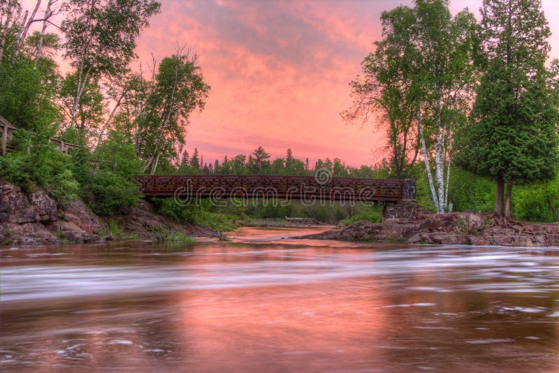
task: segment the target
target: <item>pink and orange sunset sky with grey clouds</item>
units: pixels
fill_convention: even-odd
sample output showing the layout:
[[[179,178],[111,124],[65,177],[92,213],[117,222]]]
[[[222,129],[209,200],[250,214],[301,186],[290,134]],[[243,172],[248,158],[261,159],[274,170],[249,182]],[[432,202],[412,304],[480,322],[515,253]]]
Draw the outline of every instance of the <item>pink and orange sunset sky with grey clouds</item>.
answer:
[[[380,37],[383,10],[405,0],[249,1],[162,0],[162,11],[138,40],[140,61],[158,60],[186,45],[199,55],[212,87],[203,112],[191,117],[187,149],[205,161],[248,154],[262,145],[272,156],[311,162],[339,157],[351,166],[375,163],[382,131],[348,125],[348,82]],[[559,35],[559,1],[544,0]],[[453,0],[457,13],[478,13],[481,0]],[[558,36],[552,36],[552,47]],[[557,56],[559,47],[551,54]]]

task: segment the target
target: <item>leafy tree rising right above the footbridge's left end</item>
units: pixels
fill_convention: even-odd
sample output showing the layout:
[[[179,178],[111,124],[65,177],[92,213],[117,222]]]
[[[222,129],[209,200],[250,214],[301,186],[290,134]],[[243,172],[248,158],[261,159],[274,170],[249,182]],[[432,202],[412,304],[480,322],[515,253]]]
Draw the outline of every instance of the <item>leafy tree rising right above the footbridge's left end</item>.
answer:
[[[180,48],[159,65],[153,58],[148,71],[140,66],[115,89],[120,103],[107,129],[124,133],[145,162],[143,172],[155,173],[161,159],[182,149],[191,112],[204,108],[209,91],[196,55]]]

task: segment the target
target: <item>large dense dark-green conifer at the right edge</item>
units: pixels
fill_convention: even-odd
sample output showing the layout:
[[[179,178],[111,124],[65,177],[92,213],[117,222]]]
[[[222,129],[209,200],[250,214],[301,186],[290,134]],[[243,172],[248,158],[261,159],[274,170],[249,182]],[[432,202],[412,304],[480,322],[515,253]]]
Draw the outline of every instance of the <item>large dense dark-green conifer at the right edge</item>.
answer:
[[[551,33],[541,5],[484,0],[481,8],[488,59],[460,162],[496,180],[497,217],[511,217],[513,184],[551,180],[559,161],[557,75],[545,66]]]

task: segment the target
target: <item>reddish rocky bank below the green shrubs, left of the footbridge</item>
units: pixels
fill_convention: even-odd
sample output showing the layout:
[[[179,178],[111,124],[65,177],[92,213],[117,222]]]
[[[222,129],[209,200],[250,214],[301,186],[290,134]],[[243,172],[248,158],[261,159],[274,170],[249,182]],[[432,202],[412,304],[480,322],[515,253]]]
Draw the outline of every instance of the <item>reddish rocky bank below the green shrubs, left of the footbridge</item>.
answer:
[[[108,219],[97,217],[81,200],[59,207],[48,193],[38,189],[24,193],[18,186],[0,182],[0,245],[38,245],[111,240]],[[129,214],[112,217],[119,235],[161,239],[170,232],[191,237],[219,237],[206,226],[177,224],[154,214],[153,206],[139,200]]]

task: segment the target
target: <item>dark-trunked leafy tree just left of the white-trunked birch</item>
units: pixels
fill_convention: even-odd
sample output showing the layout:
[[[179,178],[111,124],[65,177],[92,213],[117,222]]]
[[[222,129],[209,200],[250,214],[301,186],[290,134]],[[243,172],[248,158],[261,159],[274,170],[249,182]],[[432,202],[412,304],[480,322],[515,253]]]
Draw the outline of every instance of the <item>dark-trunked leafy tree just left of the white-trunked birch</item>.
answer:
[[[372,112],[377,114],[374,119],[379,128],[386,130],[395,176],[402,178],[419,152],[411,92],[416,15],[412,8],[398,6],[383,12],[381,22],[382,41],[375,42],[375,52],[361,63],[363,78],[349,83],[354,104],[342,117],[347,122],[362,118],[365,123]]]

